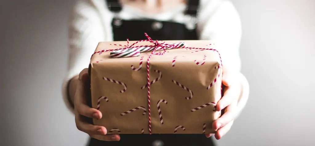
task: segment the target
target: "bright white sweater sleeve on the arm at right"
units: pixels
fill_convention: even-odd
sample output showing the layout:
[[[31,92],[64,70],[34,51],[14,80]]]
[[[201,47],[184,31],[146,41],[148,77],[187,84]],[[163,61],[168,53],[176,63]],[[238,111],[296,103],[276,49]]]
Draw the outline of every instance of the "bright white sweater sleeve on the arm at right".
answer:
[[[239,46],[242,36],[241,21],[232,2],[228,0],[201,0],[197,28],[199,39],[212,40],[219,51],[223,67],[236,72],[242,91],[238,99],[239,113],[247,103],[249,85],[241,71]]]

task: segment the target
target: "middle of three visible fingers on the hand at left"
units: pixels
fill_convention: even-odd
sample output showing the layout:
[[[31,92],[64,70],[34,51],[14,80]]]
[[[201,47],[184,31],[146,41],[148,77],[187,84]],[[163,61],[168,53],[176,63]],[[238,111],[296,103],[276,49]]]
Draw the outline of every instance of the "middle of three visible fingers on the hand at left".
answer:
[[[85,132],[89,135],[106,135],[107,129],[104,126],[96,126],[89,123],[86,123],[82,120],[82,117],[77,113],[75,116],[77,129]]]

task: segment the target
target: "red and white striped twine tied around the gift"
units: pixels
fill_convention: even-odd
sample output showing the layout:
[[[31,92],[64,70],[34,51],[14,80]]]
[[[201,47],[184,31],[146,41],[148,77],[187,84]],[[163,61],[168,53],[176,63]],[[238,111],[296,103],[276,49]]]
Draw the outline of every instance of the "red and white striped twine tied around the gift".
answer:
[[[167,46],[168,48],[184,48],[184,49],[199,49],[199,50],[213,50],[215,52],[217,52],[219,54],[219,57],[220,57],[220,61],[221,61],[221,67],[223,66],[222,65],[222,60],[221,60],[221,55],[220,53],[216,50],[216,49],[211,49],[211,48],[194,48],[194,47],[185,47],[185,46],[182,46],[182,47],[178,47],[178,46],[175,46],[175,45],[170,45],[170,44],[165,44],[165,42],[162,42],[162,43],[159,43],[157,40],[156,41],[153,41],[151,39],[151,37],[149,37],[146,33],[145,33],[145,36],[147,38],[147,40],[140,40],[140,41],[137,41],[135,43],[133,43],[132,45],[129,45],[129,40],[127,40],[127,47],[125,46],[125,48],[118,48],[118,49],[111,49],[111,50],[101,50],[101,51],[97,51],[97,52],[94,52],[91,56],[91,59],[93,57],[94,54],[96,53],[103,53],[103,52],[108,52],[108,51],[116,51],[116,50],[123,50],[123,49],[128,49],[128,48],[131,48],[133,45],[139,43],[139,42],[151,42],[153,43],[154,45],[150,46],[150,47],[155,47],[154,50],[151,52],[149,58],[147,59],[147,65],[146,65],[146,70],[147,70],[147,87],[148,87],[148,112],[149,112],[149,133],[152,134],[151,132],[151,111],[150,111],[150,78],[149,78],[149,62],[150,62],[150,59],[152,57],[153,54],[155,55],[163,55],[165,52],[166,52],[166,49],[165,49],[165,46]],[[113,44],[115,45],[115,44]],[[119,46],[119,45],[118,45]],[[136,46],[136,47],[143,47],[143,46]],[[148,45],[146,45],[146,47],[148,47]],[[158,47],[161,47],[163,48],[163,52],[162,53],[155,53],[155,51],[157,50]],[[118,82],[119,83],[119,82]],[[125,84],[121,84],[121,85],[124,85],[124,90],[126,90],[126,85]],[[124,90],[122,90],[124,92]],[[221,85],[221,90],[222,90],[222,85]],[[222,92],[222,91],[221,91]]]

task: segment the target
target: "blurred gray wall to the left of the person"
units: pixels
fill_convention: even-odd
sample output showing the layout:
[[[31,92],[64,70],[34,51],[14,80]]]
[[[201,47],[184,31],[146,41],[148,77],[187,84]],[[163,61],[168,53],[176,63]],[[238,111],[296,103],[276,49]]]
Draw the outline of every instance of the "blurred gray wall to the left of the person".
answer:
[[[75,1],[1,0],[1,146],[86,143],[61,97]]]

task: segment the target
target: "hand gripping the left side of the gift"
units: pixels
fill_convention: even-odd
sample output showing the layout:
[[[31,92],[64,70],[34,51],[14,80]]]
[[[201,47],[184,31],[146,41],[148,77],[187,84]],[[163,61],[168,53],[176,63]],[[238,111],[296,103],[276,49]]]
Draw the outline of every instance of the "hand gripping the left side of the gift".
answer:
[[[74,109],[75,109],[75,121],[77,128],[89,134],[91,138],[104,140],[104,141],[119,141],[120,136],[117,134],[108,134],[107,129],[104,126],[95,126],[88,122],[88,118],[102,118],[102,113],[94,108],[90,108],[87,105],[87,100],[91,100],[90,97],[90,80],[88,75],[88,69],[83,69],[79,74],[79,81],[77,83],[77,90],[74,95]]]

